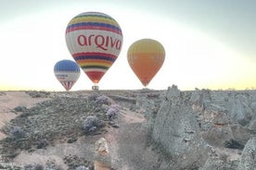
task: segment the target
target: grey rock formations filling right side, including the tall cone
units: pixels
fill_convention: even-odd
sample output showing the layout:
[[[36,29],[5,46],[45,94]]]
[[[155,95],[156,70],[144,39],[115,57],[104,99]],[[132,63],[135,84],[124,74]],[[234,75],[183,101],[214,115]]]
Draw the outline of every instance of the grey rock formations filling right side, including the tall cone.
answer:
[[[167,155],[160,169],[255,169],[255,95],[169,88],[150,120],[152,140]]]

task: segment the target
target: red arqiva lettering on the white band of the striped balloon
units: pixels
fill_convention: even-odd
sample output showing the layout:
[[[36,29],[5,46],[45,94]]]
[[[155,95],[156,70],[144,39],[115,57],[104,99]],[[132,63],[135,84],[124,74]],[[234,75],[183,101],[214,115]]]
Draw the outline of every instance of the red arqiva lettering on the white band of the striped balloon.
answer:
[[[89,36],[85,35],[79,35],[77,37],[77,42],[81,46],[91,46],[92,44],[96,44],[97,48],[100,48],[104,51],[107,51],[110,48],[115,48],[117,50],[121,50],[122,47],[122,41],[113,38],[110,36],[104,36],[104,35],[96,35],[96,34],[91,34]]]

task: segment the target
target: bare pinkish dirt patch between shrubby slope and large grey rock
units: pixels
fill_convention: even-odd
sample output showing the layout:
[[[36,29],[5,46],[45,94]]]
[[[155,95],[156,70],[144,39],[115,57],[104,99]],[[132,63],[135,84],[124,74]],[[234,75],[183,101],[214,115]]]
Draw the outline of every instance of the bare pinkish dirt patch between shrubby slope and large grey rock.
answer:
[[[158,155],[147,147],[148,128],[144,115],[122,110],[118,123],[105,138],[109,141],[112,167],[118,170],[152,170]]]

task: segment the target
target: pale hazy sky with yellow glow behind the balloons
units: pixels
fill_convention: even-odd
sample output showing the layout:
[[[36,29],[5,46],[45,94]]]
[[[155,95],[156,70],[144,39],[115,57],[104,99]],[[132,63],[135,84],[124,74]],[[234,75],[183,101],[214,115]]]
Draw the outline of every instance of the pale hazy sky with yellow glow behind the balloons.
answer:
[[[53,67],[73,60],[65,42],[71,18],[103,12],[122,29],[122,51],[100,90],[143,89],[127,62],[129,46],[159,41],[165,61],[148,89],[256,88],[255,0],[0,0],[0,91],[65,91]],[[82,72],[71,91],[91,90]]]

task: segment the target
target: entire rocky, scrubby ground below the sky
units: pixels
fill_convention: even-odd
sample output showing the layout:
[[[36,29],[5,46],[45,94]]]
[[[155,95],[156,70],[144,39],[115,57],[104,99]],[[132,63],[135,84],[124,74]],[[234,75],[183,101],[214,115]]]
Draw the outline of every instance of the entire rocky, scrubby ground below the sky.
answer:
[[[0,169],[256,169],[256,91],[2,91],[0,106]]]

